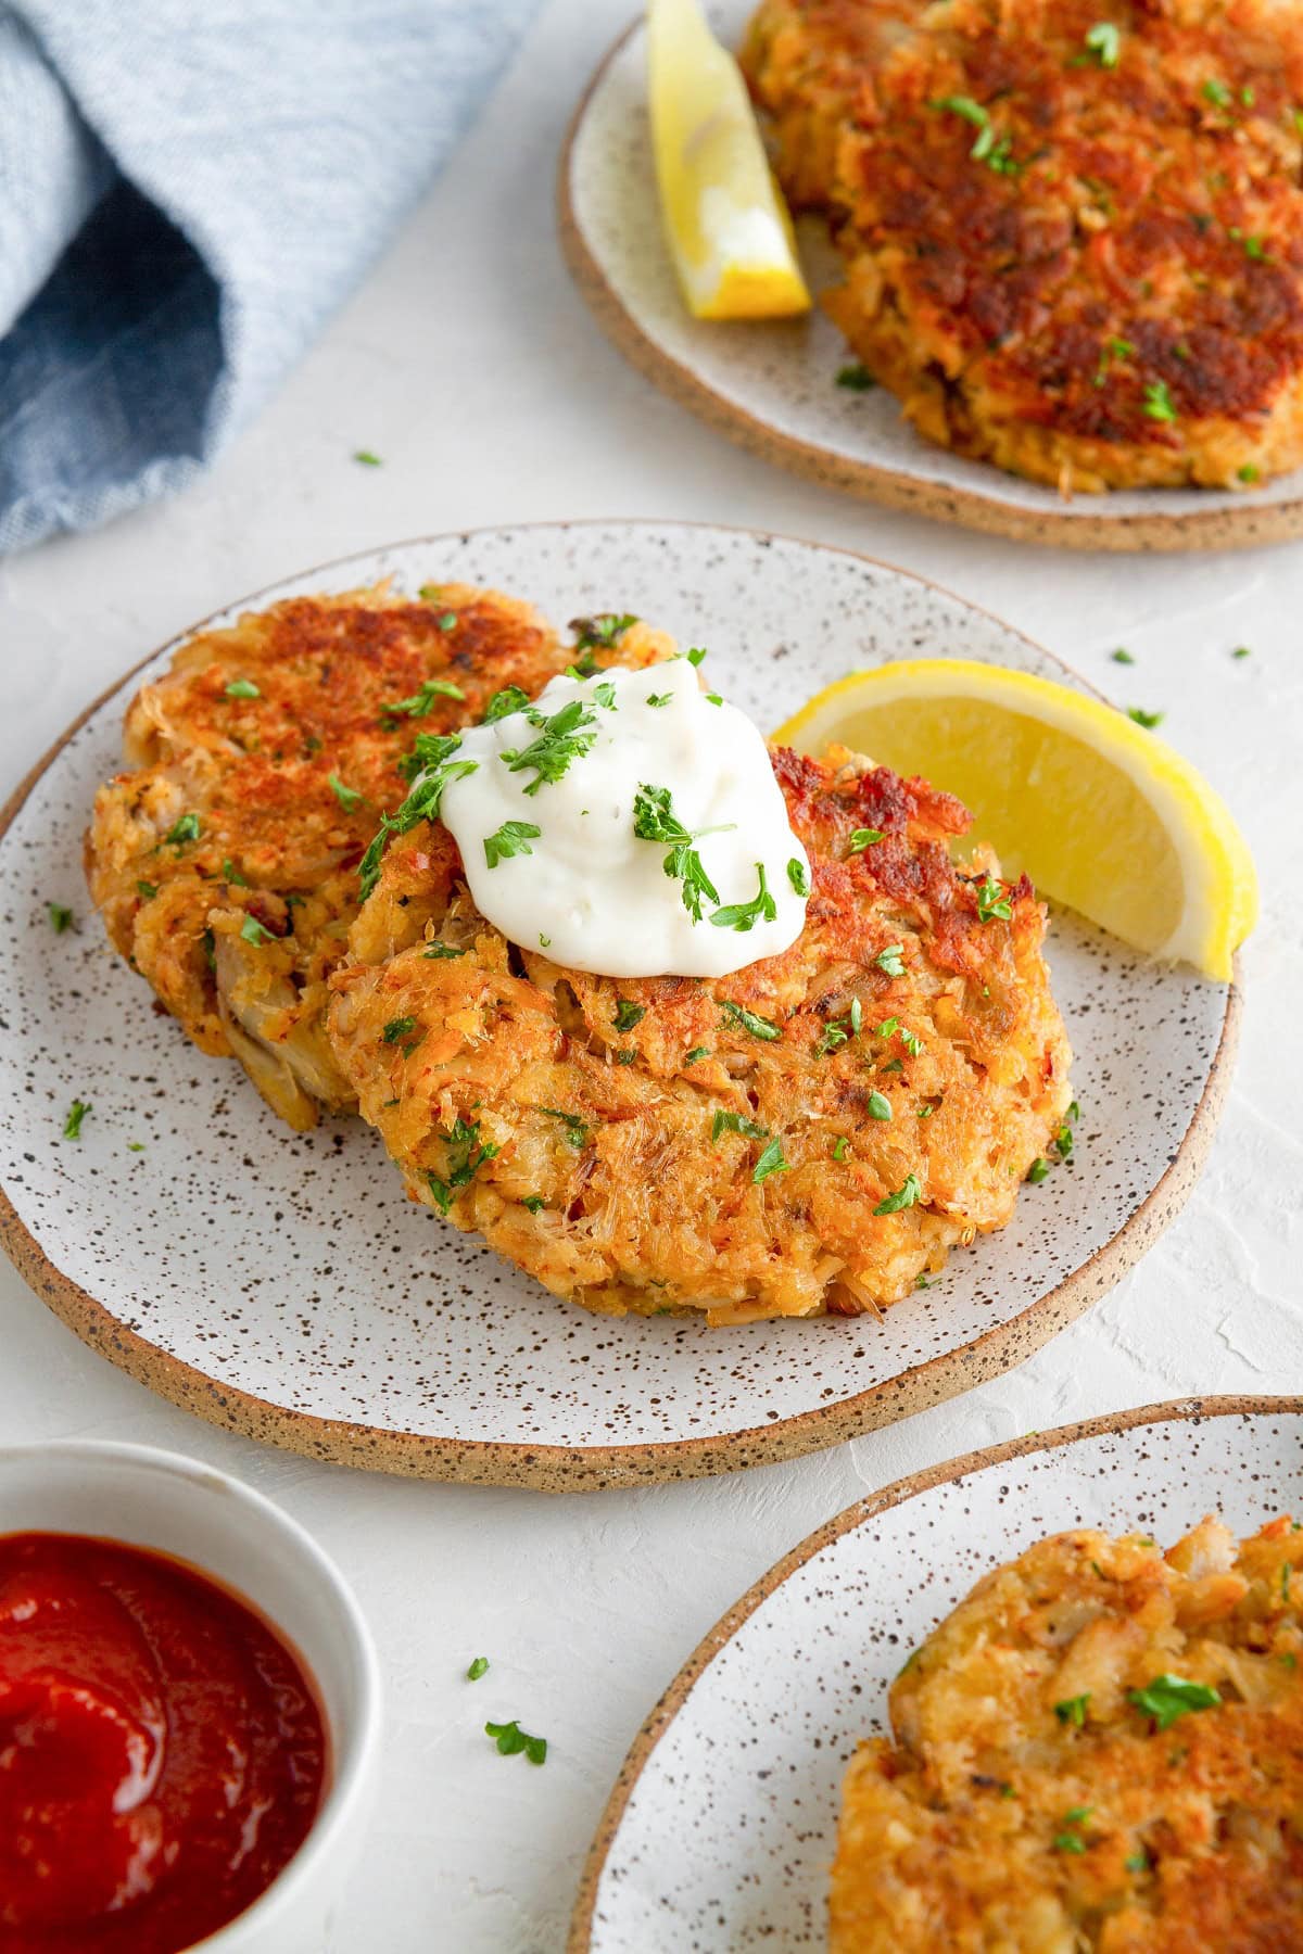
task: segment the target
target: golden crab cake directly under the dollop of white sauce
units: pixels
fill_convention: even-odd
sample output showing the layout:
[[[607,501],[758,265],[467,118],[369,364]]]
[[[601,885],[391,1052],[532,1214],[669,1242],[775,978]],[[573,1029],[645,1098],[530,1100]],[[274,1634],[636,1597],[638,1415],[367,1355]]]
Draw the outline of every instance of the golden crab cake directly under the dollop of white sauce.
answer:
[[[440,823],[391,842],[330,1036],[414,1200],[588,1309],[860,1315],[996,1229],[1065,1118],[1026,879],[965,809],[776,750],[805,928],[729,977],[609,979],[508,942]]]

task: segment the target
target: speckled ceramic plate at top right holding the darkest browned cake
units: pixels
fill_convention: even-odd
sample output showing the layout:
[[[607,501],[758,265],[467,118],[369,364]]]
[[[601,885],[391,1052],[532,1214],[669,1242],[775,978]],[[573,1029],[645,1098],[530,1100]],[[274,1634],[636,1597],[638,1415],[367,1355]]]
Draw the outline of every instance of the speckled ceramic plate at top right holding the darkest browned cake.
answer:
[[[719,0],[736,47],[754,0]],[[1227,549],[1303,533],[1303,475],[1252,492],[1149,488],[1082,494],[1020,481],[924,442],[883,389],[836,385],[840,332],[809,319],[709,324],[688,317],[660,231],[641,21],[609,51],[570,125],[559,176],[561,242],[580,291],[658,387],[754,453],[832,488],[996,535],[1076,549]],[[801,219],[811,291],[840,277],[820,219]]]

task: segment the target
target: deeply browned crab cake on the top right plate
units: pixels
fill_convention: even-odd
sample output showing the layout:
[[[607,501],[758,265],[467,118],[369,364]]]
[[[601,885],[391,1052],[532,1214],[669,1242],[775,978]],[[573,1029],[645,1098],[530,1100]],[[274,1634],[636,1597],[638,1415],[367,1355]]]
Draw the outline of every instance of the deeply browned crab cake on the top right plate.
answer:
[[[1303,463],[1303,10],[764,0],[744,64],[920,434],[1065,492]]]

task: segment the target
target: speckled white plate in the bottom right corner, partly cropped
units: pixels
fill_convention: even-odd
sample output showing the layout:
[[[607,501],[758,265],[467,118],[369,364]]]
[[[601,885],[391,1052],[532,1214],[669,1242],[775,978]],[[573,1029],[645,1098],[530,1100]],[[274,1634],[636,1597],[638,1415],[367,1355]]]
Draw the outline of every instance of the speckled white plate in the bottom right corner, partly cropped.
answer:
[[[568,1954],[826,1948],[842,1772],[887,1731],[904,1655],[975,1581],[1067,1526],[1143,1528],[1168,1548],[1205,1512],[1248,1534],[1289,1508],[1303,1510],[1297,1397],[1031,1432],[850,1507],[729,1610],[639,1731]]]

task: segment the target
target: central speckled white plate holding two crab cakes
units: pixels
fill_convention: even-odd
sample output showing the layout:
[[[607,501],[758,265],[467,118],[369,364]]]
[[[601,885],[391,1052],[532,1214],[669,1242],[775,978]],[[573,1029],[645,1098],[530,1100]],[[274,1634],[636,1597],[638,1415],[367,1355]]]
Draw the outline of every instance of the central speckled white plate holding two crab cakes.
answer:
[[[465,580],[557,621],[633,610],[711,649],[762,727],[844,672],[918,653],[1082,686],[903,571],[736,530],[576,524],[432,537],[254,600]],[[242,610],[207,623],[221,623]],[[145,670],[168,662],[164,647]],[[221,1424],[318,1458],[551,1489],[729,1471],[834,1444],[1018,1364],[1180,1208],[1229,1077],[1237,993],[1061,916],[1076,1159],[881,1323],[711,1331],[557,1301],[412,1206],[359,1120],[299,1135],[231,1061],[150,1010],[86,916],[80,842],[141,670],[20,789],[0,840],[0,1233],[98,1350]],[[1088,690],[1088,688],[1086,688]],[[82,916],[55,936],[47,901]],[[68,1104],[94,1112],[61,1139]],[[129,1151],[141,1145],[143,1151]]]

